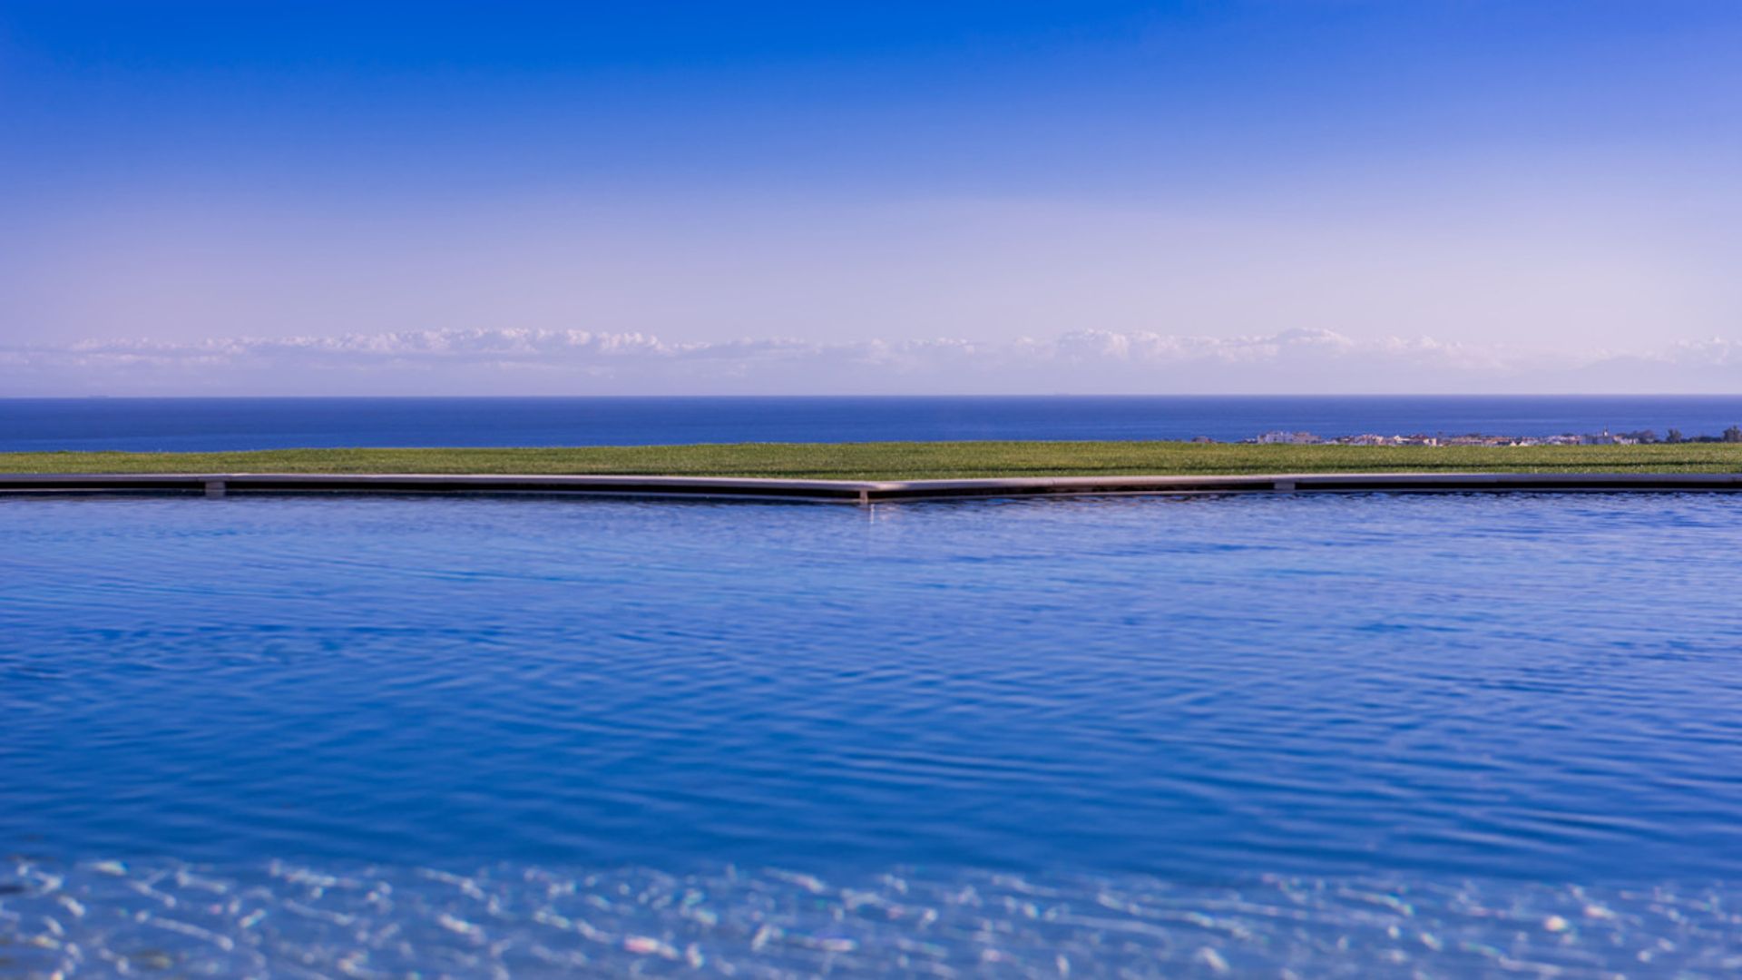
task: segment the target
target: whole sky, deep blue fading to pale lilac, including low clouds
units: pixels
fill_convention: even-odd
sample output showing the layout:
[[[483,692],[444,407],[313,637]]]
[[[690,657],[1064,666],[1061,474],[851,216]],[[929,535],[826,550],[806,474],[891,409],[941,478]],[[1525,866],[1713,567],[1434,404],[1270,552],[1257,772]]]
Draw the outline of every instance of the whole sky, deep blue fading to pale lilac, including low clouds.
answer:
[[[0,0],[0,394],[1735,391],[1739,51],[1676,0]]]

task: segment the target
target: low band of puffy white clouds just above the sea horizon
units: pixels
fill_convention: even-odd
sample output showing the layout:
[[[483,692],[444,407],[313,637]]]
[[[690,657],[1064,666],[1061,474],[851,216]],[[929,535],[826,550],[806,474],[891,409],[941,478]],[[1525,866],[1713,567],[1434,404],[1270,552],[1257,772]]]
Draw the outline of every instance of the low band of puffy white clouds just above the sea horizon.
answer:
[[[3,394],[1556,392],[1735,391],[1742,340],[1526,349],[1331,330],[1073,330],[1012,342],[432,330],[0,349]]]

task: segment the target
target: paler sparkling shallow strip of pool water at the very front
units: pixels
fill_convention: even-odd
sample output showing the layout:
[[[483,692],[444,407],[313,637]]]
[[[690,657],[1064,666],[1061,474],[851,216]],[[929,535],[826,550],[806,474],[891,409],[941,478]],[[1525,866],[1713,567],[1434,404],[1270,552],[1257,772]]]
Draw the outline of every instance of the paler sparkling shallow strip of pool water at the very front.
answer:
[[[14,863],[28,977],[1723,977],[1742,889],[1507,881]]]

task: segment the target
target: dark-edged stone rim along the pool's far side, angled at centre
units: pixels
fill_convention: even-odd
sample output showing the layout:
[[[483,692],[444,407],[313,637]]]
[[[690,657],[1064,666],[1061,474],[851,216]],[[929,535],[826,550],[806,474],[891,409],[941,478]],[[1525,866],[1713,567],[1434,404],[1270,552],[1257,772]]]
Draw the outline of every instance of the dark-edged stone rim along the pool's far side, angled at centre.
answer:
[[[772,480],[439,473],[30,473],[0,493],[538,493],[881,504],[1131,493],[1568,493],[1742,490],[1742,473],[1270,473],[1239,476],[1019,476],[982,480]]]

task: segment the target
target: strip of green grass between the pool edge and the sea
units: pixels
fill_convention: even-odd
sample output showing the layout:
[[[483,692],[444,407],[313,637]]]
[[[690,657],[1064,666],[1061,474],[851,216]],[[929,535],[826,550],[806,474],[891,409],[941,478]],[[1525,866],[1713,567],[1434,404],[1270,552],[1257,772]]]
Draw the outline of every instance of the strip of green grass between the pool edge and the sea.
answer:
[[[1737,473],[1742,445],[1258,446],[739,443],[709,446],[0,453],[0,473],[591,473],[923,480],[1198,473]]]

